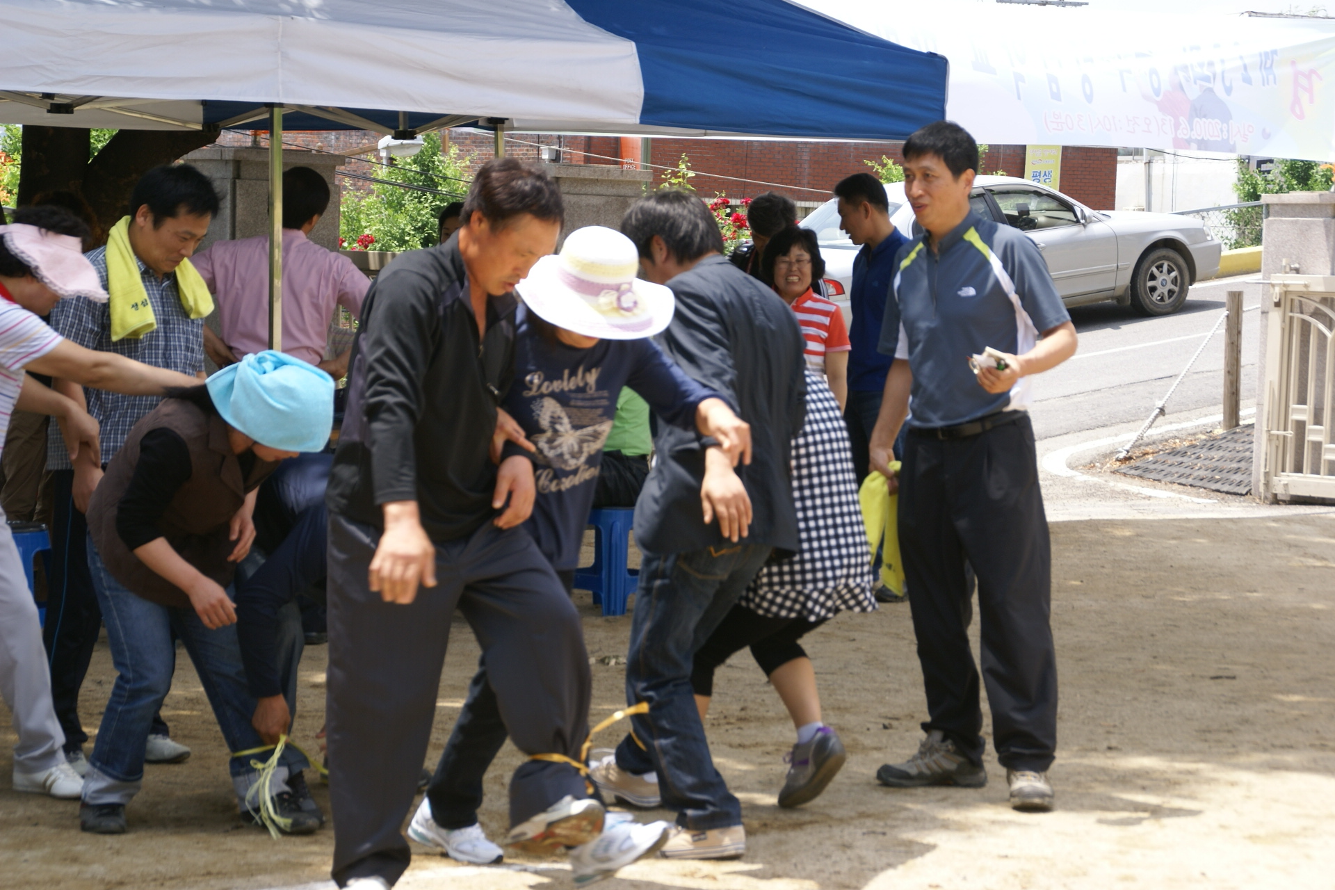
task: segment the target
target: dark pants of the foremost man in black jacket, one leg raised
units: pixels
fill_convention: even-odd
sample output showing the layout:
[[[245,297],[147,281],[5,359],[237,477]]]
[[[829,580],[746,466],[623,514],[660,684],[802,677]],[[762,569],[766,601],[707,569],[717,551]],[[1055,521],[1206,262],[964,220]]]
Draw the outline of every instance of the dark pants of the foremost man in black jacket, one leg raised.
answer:
[[[327,734],[334,879],[394,883],[411,854],[400,827],[417,794],[455,608],[482,646],[487,681],[525,754],[578,758],[591,677],[579,614],[522,528],[490,522],[437,543],[435,587],[410,604],[367,587],[379,532],[330,516]],[[587,797],[567,763],[526,761],[510,782],[517,825],[566,795]]]

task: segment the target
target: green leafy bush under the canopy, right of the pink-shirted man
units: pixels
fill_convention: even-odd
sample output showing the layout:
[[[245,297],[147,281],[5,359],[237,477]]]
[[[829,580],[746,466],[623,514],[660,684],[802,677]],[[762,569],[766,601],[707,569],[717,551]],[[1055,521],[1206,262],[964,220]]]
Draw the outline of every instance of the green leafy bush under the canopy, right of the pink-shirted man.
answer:
[[[339,204],[339,235],[343,247],[413,251],[435,244],[441,231],[437,216],[450,201],[463,200],[471,164],[471,152],[463,155],[454,144],[442,151],[441,136],[426,133],[422,137],[422,151],[417,155],[400,157],[392,167],[374,168],[372,175],[384,184],[375,183],[370,191],[358,188],[343,191]],[[403,188],[388,183],[418,188]],[[422,188],[431,191],[421,191]]]

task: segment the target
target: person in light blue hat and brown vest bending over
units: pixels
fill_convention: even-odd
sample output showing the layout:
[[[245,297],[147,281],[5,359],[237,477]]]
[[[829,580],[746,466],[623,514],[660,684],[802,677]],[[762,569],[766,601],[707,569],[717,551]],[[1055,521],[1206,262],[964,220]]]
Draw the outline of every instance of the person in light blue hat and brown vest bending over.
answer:
[[[227,588],[255,538],[256,488],[279,460],[322,448],[332,420],[334,380],[266,351],[218,371],[206,386],[174,392],[112,458],[88,504],[88,568],[116,682],[84,781],[84,831],[125,831],[125,805],[143,783],[144,739],[171,689],[178,639],[234,754],[243,817],[260,823],[268,807],[259,795],[267,793],[279,829],[319,827],[286,783],[308,766],[299,751],[286,749],[276,783],[259,786],[252,759],[264,742],[251,726],[256,702],[246,687]]]

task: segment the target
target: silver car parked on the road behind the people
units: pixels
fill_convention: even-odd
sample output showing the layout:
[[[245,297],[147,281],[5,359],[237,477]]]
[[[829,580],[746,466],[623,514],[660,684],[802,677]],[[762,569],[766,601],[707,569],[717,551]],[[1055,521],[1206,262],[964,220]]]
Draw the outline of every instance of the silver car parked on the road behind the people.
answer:
[[[921,231],[904,183],[886,184],[885,196],[896,228],[905,235]],[[1219,274],[1223,246],[1189,216],[1096,211],[1015,176],[979,176],[969,204],[984,219],[1033,239],[1067,306],[1116,300],[1140,315],[1168,315],[1181,308],[1195,282]],[[838,227],[838,201],[825,201],[801,226],[820,240],[828,295],[846,304],[858,248]]]

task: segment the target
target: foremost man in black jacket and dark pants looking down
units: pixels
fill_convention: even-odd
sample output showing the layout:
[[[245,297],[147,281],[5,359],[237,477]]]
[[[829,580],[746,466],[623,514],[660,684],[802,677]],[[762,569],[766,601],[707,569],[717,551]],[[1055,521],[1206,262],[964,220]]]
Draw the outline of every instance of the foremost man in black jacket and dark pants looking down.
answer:
[[[514,375],[511,291],[555,246],[561,195],[545,175],[495,160],[478,172],[463,215],[449,242],[400,256],[371,288],[330,472],[328,757],[340,886],[392,885],[409,865],[400,826],[455,607],[482,646],[510,738],[545,755],[511,781],[510,843],[577,846],[602,827],[602,807],[573,766],[589,734],[579,616],[519,527],[533,506],[531,462],[513,456],[498,468],[487,451]]]

